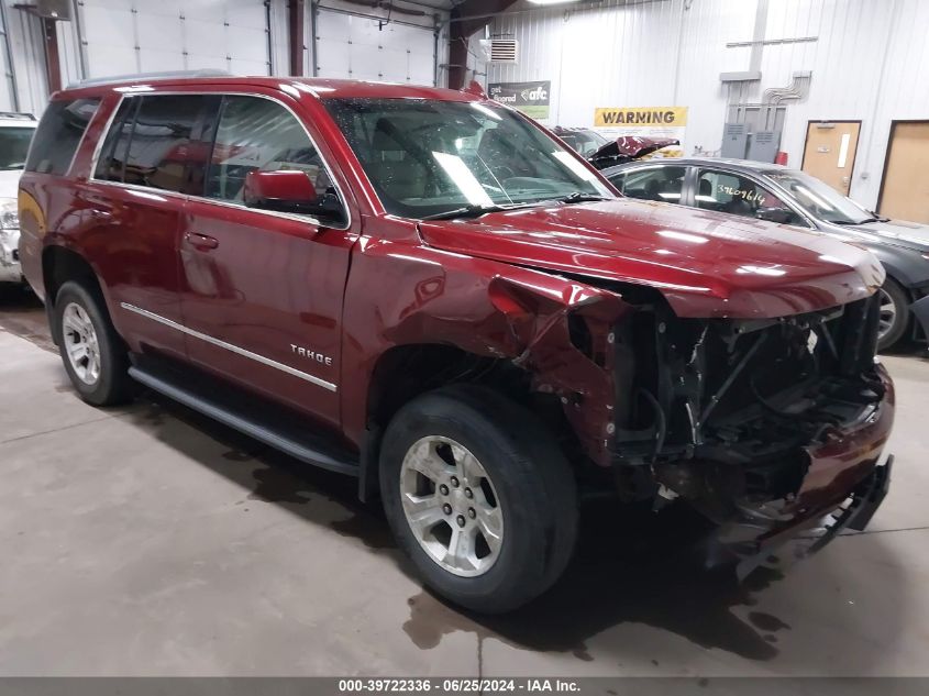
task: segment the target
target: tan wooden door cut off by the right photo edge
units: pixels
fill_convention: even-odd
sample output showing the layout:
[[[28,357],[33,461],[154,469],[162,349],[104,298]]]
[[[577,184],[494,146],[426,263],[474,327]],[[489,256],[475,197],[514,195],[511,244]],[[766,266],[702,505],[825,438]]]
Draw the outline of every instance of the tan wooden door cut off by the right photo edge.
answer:
[[[898,220],[929,223],[929,121],[897,121],[884,165],[878,208]]]

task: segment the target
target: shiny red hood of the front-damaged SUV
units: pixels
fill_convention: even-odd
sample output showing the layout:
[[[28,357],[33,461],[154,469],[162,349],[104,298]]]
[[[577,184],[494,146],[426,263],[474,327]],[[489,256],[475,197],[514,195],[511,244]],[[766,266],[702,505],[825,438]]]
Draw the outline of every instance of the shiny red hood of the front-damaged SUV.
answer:
[[[864,248],[818,232],[667,203],[610,200],[420,225],[436,248],[648,285],[682,317],[781,317],[884,280]]]

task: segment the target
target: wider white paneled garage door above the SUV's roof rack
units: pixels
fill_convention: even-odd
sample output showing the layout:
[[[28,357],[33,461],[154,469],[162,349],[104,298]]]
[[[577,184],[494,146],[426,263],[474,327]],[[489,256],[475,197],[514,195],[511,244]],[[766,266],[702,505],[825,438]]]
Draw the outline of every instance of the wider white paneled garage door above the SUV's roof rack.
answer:
[[[84,0],[78,8],[88,77],[268,74],[267,11],[257,0]]]

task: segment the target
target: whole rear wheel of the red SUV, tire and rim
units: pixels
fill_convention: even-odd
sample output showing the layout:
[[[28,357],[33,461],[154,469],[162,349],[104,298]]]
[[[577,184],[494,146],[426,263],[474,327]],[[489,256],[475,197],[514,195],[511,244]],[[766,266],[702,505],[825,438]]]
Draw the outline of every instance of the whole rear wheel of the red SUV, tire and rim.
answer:
[[[80,398],[93,406],[128,400],[129,355],[99,292],[65,283],[55,297],[54,320],[58,352]]]

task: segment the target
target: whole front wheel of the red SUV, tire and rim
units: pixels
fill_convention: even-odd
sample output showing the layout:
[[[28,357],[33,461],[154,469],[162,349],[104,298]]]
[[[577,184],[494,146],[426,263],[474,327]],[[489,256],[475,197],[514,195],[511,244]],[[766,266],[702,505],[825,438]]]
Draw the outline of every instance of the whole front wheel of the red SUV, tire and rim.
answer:
[[[380,489],[425,584],[469,609],[533,599],[574,548],[567,462],[529,411],[489,389],[449,387],[405,406],[385,433]]]

